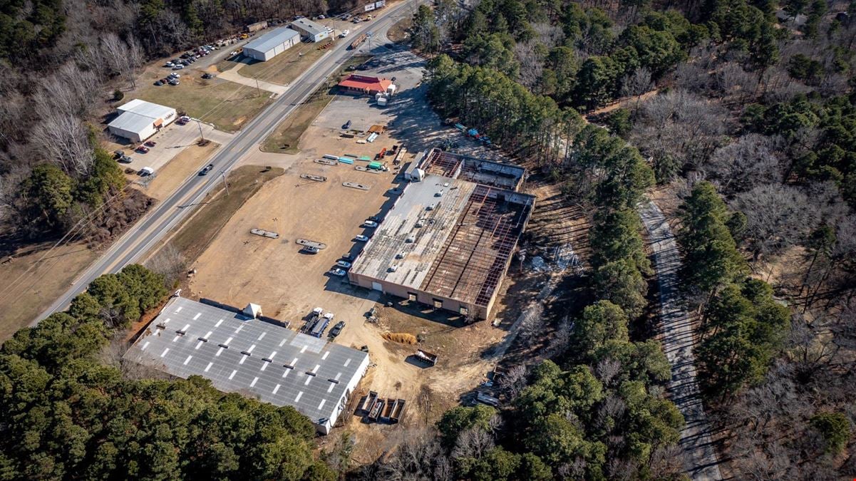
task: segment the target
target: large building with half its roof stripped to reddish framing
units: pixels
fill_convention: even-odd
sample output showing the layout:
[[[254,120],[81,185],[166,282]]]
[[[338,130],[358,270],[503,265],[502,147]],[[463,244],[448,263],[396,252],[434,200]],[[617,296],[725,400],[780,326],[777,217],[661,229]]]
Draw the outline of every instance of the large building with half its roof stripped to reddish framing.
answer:
[[[410,181],[348,272],[354,284],[474,318],[496,293],[535,206],[526,170],[422,152]]]

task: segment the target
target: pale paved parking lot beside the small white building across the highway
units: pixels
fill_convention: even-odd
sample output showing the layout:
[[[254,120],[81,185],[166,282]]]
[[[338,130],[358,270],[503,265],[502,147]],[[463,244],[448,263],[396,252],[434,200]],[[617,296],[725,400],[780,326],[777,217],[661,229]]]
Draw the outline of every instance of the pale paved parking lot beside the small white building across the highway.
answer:
[[[139,171],[143,167],[151,167],[157,172],[181,153],[187,145],[193,145],[199,140],[199,125],[197,122],[190,122],[187,125],[178,125],[175,122],[169,124],[149,139],[154,140],[158,145],[150,148],[145,154],[134,151],[136,144],[122,147],[122,150],[132,159],[131,163],[122,163],[122,168]],[[220,145],[232,138],[232,134],[221,132],[208,124],[203,123],[201,126],[205,139],[213,140]]]

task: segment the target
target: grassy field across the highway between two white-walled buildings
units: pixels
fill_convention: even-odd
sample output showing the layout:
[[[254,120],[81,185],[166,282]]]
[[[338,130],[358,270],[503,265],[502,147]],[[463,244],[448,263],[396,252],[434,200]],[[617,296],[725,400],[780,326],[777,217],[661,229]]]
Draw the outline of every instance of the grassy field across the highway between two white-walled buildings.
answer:
[[[125,98],[142,98],[149,102],[169,105],[188,116],[211,122],[220,130],[235,131],[253,118],[267,104],[268,95],[259,96],[253,87],[242,86],[228,80],[203,80],[202,71],[185,68],[180,71],[181,83],[177,86],[154,86],[153,82],[165,76],[163,68],[148,68],[141,75],[140,87]]]

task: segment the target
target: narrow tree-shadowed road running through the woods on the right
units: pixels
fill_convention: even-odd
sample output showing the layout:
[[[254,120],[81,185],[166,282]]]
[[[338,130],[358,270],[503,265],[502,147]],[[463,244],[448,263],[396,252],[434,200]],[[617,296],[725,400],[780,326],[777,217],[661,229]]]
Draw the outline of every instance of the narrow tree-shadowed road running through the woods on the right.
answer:
[[[660,285],[660,337],[663,351],[672,365],[669,395],[684,415],[687,425],[681,430],[684,467],[693,479],[722,479],[716,448],[710,440],[710,423],[698,393],[693,345],[695,319],[684,308],[678,270],[681,252],[663,212],[653,202],[639,206],[639,216],[651,235],[654,269]]]

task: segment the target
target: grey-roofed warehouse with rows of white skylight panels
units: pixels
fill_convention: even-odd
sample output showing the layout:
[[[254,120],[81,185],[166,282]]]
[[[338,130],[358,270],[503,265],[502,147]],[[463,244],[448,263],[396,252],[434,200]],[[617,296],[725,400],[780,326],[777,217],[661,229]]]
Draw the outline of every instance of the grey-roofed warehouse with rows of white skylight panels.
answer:
[[[175,297],[124,359],[292,406],[328,434],[366,374],[368,353],[254,318],[259,311],[255,305],[239,311]]]

